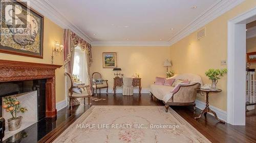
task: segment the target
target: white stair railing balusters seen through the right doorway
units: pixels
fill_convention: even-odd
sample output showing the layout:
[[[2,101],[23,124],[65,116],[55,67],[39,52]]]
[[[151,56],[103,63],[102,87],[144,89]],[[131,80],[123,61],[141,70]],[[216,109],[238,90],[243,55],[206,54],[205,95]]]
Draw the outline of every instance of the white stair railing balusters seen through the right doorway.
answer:
[[[255,69],[246,69],[246,111],[254,109],[255,107],[253,105],[256,104],[254,74]]]

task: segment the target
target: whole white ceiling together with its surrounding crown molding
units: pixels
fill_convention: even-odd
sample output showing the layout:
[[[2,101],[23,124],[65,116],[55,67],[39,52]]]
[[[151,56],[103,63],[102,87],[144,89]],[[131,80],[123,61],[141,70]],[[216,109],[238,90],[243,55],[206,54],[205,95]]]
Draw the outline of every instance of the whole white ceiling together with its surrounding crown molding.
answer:
[[[30,7],[93,46],[170,46],[244,1],[30,0]]]

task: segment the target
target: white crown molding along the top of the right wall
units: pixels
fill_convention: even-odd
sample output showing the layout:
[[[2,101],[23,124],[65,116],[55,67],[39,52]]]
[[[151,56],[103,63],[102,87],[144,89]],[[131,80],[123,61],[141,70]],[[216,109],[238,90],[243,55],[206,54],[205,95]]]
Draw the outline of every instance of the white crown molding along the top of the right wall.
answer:
[[[198,16],[194,21],[190,22],[186,27],[179,31],[174,37],[168,40],[169,46],[172,46],[176,42],[182,40],[186,36],[199,30],[201,27],[205,26],[210,21],[216,19],[217,17],[223,15],[232,8],[238,6],[245,0],[219,0],[214,5],[211,5],[206,11],[204,11],[200,16]]]

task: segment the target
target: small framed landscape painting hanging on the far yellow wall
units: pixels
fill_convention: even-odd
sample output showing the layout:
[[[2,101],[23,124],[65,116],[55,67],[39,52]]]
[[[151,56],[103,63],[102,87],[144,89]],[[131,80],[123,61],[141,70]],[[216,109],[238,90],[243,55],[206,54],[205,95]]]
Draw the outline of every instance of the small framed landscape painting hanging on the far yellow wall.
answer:
[[[103,68],[116,68],[116,52],[103,52],[102,53],[103,59]]]

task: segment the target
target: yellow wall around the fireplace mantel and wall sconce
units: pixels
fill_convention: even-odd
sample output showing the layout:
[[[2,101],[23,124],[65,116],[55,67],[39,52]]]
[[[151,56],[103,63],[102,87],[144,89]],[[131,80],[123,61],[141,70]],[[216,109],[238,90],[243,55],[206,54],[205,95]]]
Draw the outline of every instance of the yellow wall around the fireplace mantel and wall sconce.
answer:
[[[63,29],[47,17],[44,19],[44,59],[30,58],[14,54],[0,53],[0,59],[51,64],[52,46],[55,41],[63,43]],[[63,65],[63,53],[54,56],[54,64]],[[65,69],[56,70],[56,103],[65,100]]]

